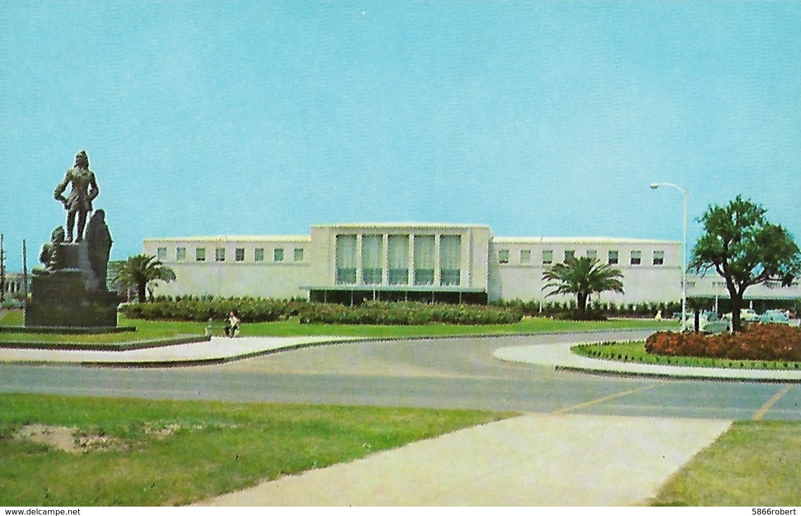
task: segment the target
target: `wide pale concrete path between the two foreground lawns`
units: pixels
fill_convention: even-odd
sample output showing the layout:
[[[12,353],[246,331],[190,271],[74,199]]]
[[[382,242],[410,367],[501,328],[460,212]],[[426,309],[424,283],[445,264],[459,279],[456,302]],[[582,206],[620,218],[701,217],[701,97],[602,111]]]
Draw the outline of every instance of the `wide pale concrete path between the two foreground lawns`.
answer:
[[[639,505],[729,425],[531,414],[264,482],[199,505]]]

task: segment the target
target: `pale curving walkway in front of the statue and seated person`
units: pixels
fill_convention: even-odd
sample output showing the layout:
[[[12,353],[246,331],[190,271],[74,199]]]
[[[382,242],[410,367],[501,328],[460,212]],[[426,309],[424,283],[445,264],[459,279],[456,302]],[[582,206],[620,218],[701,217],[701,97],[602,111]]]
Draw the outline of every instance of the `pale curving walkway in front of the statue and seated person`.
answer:
[[[359,341],[358,337],[211,337],[211,341],[131,349],[129,351],[69,351],[61,349],[2,349],[0,362],[56,363],[159,367],[202,365],[256,357],[276,351],[324,343]]]

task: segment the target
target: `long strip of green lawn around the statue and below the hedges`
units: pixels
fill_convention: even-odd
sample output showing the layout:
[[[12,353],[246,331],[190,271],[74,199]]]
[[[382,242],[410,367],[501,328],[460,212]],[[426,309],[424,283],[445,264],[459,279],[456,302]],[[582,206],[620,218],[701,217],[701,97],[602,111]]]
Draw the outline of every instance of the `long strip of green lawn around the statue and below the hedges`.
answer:
[[[0,321],[3,326],[22,325],[22,312],[8,312]],[[103,335],[46,335],[30,333],[0,333],[2,341],[60,341],[60,342],[120,342],[147,340],[179,335],[202,335],[203,323],[127,319],[119,316],[119,325],[135,326],[135,333],[107,333]],[[620,319],[606,321],[553,320],[544,317],[526,317],[513,325],[301,325],[297,319],[272,323],[242,325],[243,337],[296,337],[307,335],[332,335],[344,337],[441,337],[449,335],[513,334],[541,332],[572,332],[603,329],[676,329],[670,321],[649,319]],[[223,322],[215,321],[214,335],[222,335]]]

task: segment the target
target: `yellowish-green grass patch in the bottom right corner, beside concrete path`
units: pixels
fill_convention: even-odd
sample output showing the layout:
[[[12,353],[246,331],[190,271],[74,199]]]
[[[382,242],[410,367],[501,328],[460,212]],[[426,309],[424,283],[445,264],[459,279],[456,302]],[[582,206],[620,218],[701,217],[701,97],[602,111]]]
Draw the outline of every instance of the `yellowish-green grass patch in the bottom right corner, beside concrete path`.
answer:
[[[801,423],[738,421],[666,482],[651,504],[798,506],[799,479]]]

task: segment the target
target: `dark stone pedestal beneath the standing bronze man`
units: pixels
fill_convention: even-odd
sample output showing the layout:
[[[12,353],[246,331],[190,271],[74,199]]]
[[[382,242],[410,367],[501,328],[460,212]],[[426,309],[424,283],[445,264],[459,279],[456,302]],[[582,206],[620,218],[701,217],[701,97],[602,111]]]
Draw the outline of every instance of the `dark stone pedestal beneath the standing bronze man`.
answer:
[[[117,297],[92,268],[87,242],[52,248],[58,256],[54,268],[31,278],[25,326],[116,327]]]

